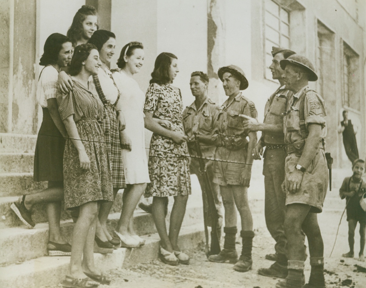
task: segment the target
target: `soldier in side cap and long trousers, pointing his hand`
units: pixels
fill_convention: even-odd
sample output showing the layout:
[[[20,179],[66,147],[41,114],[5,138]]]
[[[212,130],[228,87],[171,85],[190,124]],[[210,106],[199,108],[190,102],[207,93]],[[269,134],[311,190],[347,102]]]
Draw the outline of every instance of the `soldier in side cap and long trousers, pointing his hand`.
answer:
[[[280,87],[273,93],[265,106],[264,121],[259,123],[254,120],[244,120],[244,129],[253,132],[262,131],[262,137],[253,150],[254,159],[261,159],[263,155],[263,175],[265,187],[264,215],[268,231],[276,241],[276,254],[266,255],[266,259],[276,261],[270,268],[262,268],[258,273],[268,277],[285,278],[287,276],[287,256],[285,245],[287,243],[283,222],[285,220],[286,194],[281,185],[285,179],[285,158],[283,149],[283,116],[286,111],[287,100],[292,92],[284,85],[284,71],[280,61],[295,54],[294,51],[272,47],[272,64],[269,66],[272,78],[279,80]],[[263,154],[263,148],[265,152]]]

